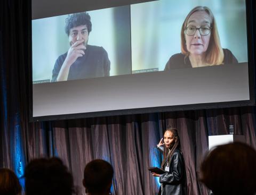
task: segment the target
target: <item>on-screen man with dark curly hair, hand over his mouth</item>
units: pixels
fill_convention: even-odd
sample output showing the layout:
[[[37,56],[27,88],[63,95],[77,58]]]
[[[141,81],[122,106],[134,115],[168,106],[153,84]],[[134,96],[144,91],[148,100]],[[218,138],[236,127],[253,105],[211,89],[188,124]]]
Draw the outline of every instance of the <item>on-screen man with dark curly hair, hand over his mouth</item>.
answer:
[[[65,31],[70,48],[56,60],[52,82],[109,76],[110,61],[103,47],[88,45],[92,30],[88,13],[69,14]]]

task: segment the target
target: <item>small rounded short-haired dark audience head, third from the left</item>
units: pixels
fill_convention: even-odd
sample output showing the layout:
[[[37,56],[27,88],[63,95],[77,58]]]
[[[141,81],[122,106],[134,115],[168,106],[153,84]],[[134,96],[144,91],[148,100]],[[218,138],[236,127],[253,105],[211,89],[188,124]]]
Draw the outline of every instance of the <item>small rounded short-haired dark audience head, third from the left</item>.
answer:
[[[83,185],[90,195],[110,193],[113,179],[113,167],[105,160],[92,160],[85,166]]]

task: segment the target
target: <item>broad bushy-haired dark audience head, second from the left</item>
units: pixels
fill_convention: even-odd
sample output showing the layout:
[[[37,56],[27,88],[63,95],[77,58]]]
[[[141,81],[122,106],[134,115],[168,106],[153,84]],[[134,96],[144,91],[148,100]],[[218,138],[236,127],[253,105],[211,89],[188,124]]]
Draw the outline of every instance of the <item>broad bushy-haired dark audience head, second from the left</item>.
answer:
[[[59,158],[31,160],[25,169],[26,195],[71,195],[73,176]]]

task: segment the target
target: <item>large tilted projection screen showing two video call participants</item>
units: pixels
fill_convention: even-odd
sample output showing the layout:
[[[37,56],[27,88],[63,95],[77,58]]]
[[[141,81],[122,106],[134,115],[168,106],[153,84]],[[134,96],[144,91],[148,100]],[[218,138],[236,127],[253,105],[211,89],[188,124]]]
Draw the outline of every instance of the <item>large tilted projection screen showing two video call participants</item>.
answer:
[[[249,4],[33,0],[31,120],[253,105]]]

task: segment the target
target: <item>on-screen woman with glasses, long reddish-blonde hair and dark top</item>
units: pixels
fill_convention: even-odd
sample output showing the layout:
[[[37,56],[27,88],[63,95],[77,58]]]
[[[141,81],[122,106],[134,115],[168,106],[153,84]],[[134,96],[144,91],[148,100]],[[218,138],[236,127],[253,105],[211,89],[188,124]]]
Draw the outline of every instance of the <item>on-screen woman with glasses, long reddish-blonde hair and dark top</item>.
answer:
[[[181,53],[171,56],[164,70],[238,63],[229,49],[222,49],[211,10],[197,6],[181,29]]]

